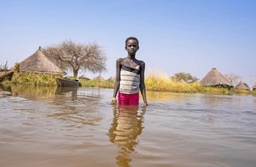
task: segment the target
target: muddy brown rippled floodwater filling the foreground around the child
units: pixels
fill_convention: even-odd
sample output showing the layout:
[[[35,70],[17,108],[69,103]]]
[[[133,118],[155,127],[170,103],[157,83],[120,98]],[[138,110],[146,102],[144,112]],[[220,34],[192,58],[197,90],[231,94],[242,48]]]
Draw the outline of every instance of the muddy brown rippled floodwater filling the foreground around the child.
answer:
[[[1,167],[255,167],[256,97],[147,91],[112,108],[113,90],[0,90]]]

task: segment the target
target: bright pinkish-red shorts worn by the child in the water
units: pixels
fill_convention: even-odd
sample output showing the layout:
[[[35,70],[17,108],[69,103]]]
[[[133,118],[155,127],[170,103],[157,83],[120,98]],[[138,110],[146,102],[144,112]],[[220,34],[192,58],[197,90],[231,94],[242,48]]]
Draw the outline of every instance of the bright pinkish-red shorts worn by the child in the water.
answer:
[[[139,92],[135,94],[118,93],[118,105],[139,105]]]

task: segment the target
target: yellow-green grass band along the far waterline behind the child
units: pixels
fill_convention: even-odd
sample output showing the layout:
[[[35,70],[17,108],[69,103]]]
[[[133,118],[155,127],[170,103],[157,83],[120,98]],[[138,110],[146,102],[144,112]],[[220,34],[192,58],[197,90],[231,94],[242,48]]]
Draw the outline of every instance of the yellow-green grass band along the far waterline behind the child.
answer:
[[[56,86],[56,77],[62,75],[43,74],[34,72],[15,72],[11,81],[5,80],[2,84],[22,84],[29,86]],[[99,87],[99,88],[114,88],[115,81],[113,80],[79,80],[82,87]],[[252,94],[256,95],[256,91],[246,91],[239,89],[226,89],[222,87],[205,87],[198,82],[187,84],[186,82],[177,81],[162,74],[162,72],[151,73],[146,76],[145,84],[147,91],[169,91],[169,92],[184,92],[184,93],[215,93],[215,94]]]

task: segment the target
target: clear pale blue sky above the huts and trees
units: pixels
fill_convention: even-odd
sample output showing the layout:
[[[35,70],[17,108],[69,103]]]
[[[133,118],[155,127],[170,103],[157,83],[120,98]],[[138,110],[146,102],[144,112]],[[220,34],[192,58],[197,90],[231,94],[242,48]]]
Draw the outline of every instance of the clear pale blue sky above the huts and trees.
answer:
[[[117,59],[127,56],[129,36],[139,39],[136,57],[146,62],[146,76],[185,72],[202,79],[216,68],[254,84],[255,0],[1,1],[0,64],[9,68],[39,46],[96,42],[107,57],[102,76],[108,79]]]

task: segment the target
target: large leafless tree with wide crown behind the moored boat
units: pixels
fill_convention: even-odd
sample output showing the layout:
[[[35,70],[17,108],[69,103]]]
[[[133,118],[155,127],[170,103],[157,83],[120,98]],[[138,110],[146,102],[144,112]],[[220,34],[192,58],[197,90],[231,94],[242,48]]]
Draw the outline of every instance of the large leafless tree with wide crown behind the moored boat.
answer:
[[[79,69],[93,73],[106,70],[107,57],[96,43],[85,45],[66,40],[59,45],[46,47],[42,52],[58,67],[72,69],[74,77],[78,76]]]

